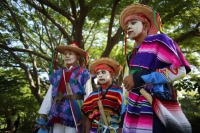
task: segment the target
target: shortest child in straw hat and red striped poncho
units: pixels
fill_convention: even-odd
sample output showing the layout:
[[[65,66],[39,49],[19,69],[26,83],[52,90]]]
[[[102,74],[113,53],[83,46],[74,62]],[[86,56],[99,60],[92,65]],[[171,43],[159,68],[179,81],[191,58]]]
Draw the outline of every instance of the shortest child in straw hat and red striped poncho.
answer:
[[[117,133],[122,104],[122,88],[112,83],[121,65],[110,58],[100,58],[89,66],[101,85],[84,101],[82,112],[88,117],[86,133]]]

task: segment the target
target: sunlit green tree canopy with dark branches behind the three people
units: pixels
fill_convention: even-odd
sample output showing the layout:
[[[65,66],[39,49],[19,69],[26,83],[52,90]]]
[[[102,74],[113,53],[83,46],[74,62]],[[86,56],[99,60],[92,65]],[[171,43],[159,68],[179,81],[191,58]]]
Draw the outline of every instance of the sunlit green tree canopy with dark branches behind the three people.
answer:
[[[28,88],[41,103],[49,86],[44,75],[48,75],[55,47],[74,41],[89,53],[89,61],[111,57],[125,65],[119,15],[132,3],[149,5],[160,13],[163,32],[179,44],[192,66],[189,81],[200,92],[198,0],[1,0],[0,91],[13,89],[6,86],[10,77],[18,90]],[[128,50],[132,47],[128,40]],[[62,67],[58,56],[58,67]]]

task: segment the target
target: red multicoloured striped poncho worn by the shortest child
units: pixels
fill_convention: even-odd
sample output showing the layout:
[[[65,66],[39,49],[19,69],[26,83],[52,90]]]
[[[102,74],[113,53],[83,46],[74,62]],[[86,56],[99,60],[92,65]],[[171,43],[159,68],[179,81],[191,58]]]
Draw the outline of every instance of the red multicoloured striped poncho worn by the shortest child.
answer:
[[[99,98],[101,99],[107,119],[110,117],[119,121],[122,104],[122,88],[112,84],[107,89],[98,88],[88,96],[83,103],[82,112],[91,120],[100,120],[100,111],[97,103]],[[113,126],[118,125],[118,123],[110,122],[109,120],[108,124]],[[97,133],[97,128],[98,124],[92,121],[90,133]],[[106,133],[110,133],[110,131],[107,130]]]

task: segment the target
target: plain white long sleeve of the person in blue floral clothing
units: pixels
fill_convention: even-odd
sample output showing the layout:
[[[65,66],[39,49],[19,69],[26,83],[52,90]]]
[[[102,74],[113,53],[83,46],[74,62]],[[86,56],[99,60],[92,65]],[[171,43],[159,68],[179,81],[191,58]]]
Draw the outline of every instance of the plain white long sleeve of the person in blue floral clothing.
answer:
[[[49,114],[49,111],[51,109],[51,105],[52,105],[52,102],[53,102],[53,99],[52,99],[52,88],[53,86],[50,85],[48,91],[47,91],[47,94],[42,102],[42,105],[40,106],[40,109],[38,111],[39,114],[46,114],[48,115]]]

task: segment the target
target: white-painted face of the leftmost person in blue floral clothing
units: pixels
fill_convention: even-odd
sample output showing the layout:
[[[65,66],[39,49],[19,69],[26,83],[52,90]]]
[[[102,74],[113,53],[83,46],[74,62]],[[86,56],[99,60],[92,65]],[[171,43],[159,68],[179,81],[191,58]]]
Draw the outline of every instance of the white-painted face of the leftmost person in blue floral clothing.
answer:
[[[66,65],[75,63],[77,60],[77,54],[74,51],[65,51],[64,62]]]

